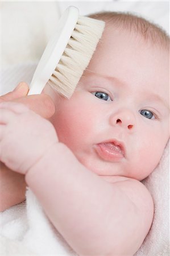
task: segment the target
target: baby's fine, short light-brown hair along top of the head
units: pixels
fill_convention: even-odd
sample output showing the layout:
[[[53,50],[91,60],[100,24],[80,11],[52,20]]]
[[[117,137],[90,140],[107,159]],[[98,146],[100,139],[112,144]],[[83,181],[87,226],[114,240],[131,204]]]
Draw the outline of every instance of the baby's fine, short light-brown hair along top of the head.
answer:
[[[115,28],[134,31],[143,36],[145,40],[169,49],[169,35],[163,28],[148,20],[131,14],[121,12],[102,12],[88,15],[90,18],[100,19],[106,22],[106,26],[112,25]]]

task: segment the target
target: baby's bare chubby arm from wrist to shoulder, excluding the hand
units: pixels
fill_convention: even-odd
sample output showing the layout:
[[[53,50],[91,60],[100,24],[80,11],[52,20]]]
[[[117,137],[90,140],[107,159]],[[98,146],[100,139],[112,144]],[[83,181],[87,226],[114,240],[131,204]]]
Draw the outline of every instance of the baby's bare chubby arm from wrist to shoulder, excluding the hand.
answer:
[[[78,255],[133,255],[150,229],[153,203],[139,181],[117,179],[107,183],[60,143],[26,175],[47,216]]]

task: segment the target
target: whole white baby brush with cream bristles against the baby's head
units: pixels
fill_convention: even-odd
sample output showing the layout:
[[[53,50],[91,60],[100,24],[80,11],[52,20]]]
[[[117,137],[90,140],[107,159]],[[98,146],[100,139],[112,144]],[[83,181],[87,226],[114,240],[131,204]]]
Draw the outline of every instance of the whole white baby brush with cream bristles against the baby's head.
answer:
[[[104,27],[105,22],[79,16],[78,9],[69,6],[43,52],[28,95],[41,93],[48,82],[57,93],[70,98],[92,58]]]

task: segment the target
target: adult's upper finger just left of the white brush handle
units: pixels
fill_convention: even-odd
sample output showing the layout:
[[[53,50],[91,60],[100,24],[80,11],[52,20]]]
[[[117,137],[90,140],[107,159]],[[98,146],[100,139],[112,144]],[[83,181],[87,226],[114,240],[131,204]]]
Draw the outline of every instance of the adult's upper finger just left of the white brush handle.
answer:
[[[20,84],[13,90],[13,92],[9,92],[0,97],[0,102],[2,101],[11,101],[16,98],[24,97],[28,93],[28,85],[26,82],[20,82]]]

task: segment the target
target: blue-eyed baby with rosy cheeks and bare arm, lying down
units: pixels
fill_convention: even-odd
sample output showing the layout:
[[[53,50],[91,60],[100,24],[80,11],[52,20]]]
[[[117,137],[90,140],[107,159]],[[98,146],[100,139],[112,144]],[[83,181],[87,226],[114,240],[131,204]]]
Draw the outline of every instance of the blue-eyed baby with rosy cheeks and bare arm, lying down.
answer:
[[[25,175],[78,255],[133,255],[154,215],[140,181],[169,139],[169,38],[136,16],[93,18],[105,31],[71,99],[45,86],[56,109],[50,122],[1,103],[0,160]]]

